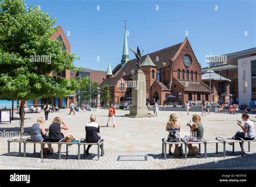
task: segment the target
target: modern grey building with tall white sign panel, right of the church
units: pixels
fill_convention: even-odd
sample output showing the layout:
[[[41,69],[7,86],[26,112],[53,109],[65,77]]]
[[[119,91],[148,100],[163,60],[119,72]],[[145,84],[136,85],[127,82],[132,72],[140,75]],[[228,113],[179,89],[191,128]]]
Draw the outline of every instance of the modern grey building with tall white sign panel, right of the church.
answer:
[[[231,80],[230,99],[249,105],[251,98],[256,99],[256,47],[220,56],[226,61],[213,64],[211,70]]]

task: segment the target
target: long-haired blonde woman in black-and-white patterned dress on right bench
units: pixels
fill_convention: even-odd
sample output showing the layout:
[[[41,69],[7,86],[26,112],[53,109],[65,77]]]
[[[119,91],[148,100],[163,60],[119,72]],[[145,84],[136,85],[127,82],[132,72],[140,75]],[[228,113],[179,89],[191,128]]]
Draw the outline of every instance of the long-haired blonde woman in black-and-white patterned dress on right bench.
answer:
[[[169,135],[167,138],[167,141],[170,142],[180,142],[180,123],[177,121],[178,116],[177,114],[171,114],[169,121],[166,124],[165,130],[169,131]],[[176,144],[175,147],[178,147],[179,145]],[[172,155],[171,152],[172,144],[169,144],[169,154]]]

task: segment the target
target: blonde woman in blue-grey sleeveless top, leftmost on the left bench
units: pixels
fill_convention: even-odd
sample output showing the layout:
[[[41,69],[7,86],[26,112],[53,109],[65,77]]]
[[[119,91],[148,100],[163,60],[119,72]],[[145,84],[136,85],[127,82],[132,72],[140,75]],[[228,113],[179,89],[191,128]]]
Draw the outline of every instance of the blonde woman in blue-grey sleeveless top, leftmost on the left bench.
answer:
[[[47,141],[49,140],[49,136],[47,135],[45,128],[44,128],[44,119],[42,117],[39,117],[37,119],[37,122],[32,125],[31,127],[31,141]],[[43,144],[45,146],[45,144]],[[50,144],[48,144],[48,148],[51,147]]]

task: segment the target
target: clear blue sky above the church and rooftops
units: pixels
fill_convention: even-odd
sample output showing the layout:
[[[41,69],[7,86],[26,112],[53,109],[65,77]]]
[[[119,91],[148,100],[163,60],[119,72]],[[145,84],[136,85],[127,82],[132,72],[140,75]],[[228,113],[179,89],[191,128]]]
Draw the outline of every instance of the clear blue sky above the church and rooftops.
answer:
[[[80,56],[75,64],[85,68],[106,70],[110,61],[113,69],[120,62],[125,18],[128,46],[138,45],[144,53],[180,43],[188,31],[187,38],[202,67],[207,66],[206,55],[256,46],[254,0],[25,0],[25,3],[40,5],[43,11],[57,18],[56,25],[62,25],[65,33],[70,31],[67,37],[71,52]],[[134,59],[130,50],[129,57]]]

